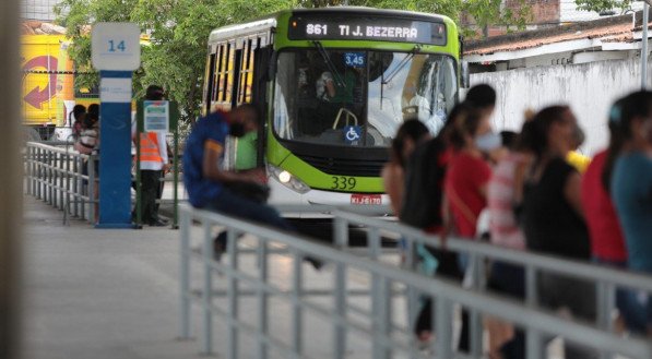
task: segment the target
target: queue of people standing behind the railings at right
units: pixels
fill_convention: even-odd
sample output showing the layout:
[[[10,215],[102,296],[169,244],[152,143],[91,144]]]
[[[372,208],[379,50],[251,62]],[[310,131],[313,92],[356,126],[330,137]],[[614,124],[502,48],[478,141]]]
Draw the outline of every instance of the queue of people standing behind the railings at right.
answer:
[[[491,113],[496,93],[471,88],[431,136],[417,120],[399,129],[382,177],[399,218],[427,232],[489,240],[513,250],[652,272],[652,93],[617,100],[608,117],[610,141],[588,165],[574,151],[583,141],[568,106],[529,111],[520,133],[496,133]],[[588,167],[586,167],[588,165]],[[488,226],[483,217],[488,217]],[[488,227],[486,230],[483,227]],[[417,249],[423,263],[439,275],[462,280],[462,254]],[[565,308],[595,321],[594,285],[546,274],[537,280],[538,302]],[[491,263],[488,287],[524,298],[524,270]],[[430,303],[423,306],[417,336],[430,335]],[[619,288],[617,308],[628,331],[652,335],[652,300]],[[487,322],[497,340],[496,358],[523,358],[525,335],[500,322]],[[507,326],[507,327],[506,327]],[[467,349],[467,315],[462,314],[460,350]],[[507,334],[506,334],[507,333]],[[565,346],[566,358],[593,358],[589,348]]]

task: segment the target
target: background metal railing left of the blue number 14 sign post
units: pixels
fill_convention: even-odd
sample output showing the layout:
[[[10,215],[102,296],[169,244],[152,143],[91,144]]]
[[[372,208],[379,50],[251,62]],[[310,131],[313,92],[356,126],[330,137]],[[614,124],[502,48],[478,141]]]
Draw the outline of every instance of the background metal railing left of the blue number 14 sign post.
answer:
[[[24,191],[69,215],[95,223],[94,198],[98,179],[97,156],[82,155],[66,147],[27,142],[24,153]]]

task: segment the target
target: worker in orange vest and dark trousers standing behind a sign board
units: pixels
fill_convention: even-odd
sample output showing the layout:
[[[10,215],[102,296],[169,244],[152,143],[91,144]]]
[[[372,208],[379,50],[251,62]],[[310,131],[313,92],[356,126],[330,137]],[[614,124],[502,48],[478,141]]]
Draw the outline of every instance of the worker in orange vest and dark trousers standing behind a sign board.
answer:
[[[149,86],[145,99],[162,100],[163,88],[157,85]],[[135,137],[135,131],[132,132]],[[165,132],[143,132],[140,134],[141,219],[143,224],[154,227],[166,225],[166,223],[158,217],[158,206],[156,205],[156,200],[161,192],[161,180],[169,168],[165,137]]]

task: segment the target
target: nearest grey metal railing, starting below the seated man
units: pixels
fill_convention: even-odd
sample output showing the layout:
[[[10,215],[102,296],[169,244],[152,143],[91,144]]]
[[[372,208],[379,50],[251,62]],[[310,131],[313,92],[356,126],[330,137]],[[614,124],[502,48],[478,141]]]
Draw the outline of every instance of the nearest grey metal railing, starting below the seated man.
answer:
[[[306,314],[318,315],[331,327],[332,344],[330,357],[345,358],[346,349],[352,343],[368,343],[368,357],[371,358],[481,358],[482,354],[471,352],[470,356],[457,354],[452,340],[452,313],[453,306],[459,303],[478,314],[488,314],[501,318],[524,327],[529,334],[537,333],[538,336],[529,336],[527,358],[541,358],[542,335],[561,335],[573,343],[585,345],[601,352],[618,352],[629,358],[652,358],[652,345],[637,337],[624,338],[609,331],[594,325],[578,323],[564,319],[545,310],[534,308],[532,303],[521,303],[514,300],[493,296],[477,290],[464,289],[458,284],[438,278],[428,278],[417,273],[396,267],[380,261],[381,238],[379,232],[383,227],[396,224],[370,222],[374,227],[369,230],[368,258],[360,258],[345,251],[346,231],[342,226],[345,223],[363,222],[356,214],[336,212],[335,246],[317,243],[303,236],[274,230],[268,227],[232,218],[221,214],[195,210],[183,205],[180,210],[180,336],[189,338],[191,327],[191,303],[201,303],[202,310],[202,346],[204,354],[214,351],[213,316],[221,315],[226,319],[227,348],[226,357],[229,359],[253,357],[241,355],[250,348],[239,346],[238,337],[242,332],[250,333],[249,337],[256,343],[257,358],[268,358],[271,352],[281,352],[282,358],[310,358],[307,350],[306,337],[309,327],[305,327]],[[344,217],[346,219],[344,219]],[[339,219],[337,219],[339,218]],[[192,230],[192,224],[199,223],[201,231]],[[213,260],[213,226],[221,226],[227,231],[228,244],[226,260]],[[436,240],[423,236],[410,228],[396,227],[411,235],[415,241],[428,242]],[[394,230],[392,228],[391,230]],[[336,232],[337,232],[336,230]],[[241,235],[254,236],[252,249],[244,249],[242,241],[237,240]],[[193,238],[195,241],[193,242]],[[199,248],[194,248],[199,239]],[[467,247],[471,246],[471,247]],[[451,249],[475,251],[478,254],[487,250],[476,248],[477,243],[461,243],[451,241]],[[488,247],[488,246],[487,246]],[[498,249],[500,251],[501,249]],[[274,255],[289,256],[292,264],[289,276],[274,276],[271,280],[270,263]],[[244,265],[247,255],[253,254],[256,265]],[[484,255],[494,253],[486,252]],[[523,253],[521,253],[523,254]],[[495,255],[498,258],[499,255]],[[329,294],[330,303],[311,300],[310,289],[305,285],[306,270],[303,260],[306,258],[319,259],[327,263],[325,270],[316,275],[332,278],[332,288]],[[201,263],[201,289],[191,288],[191,261]],[[506,260],[508,258],[505,258]],[[541,258],[543,261],[544,258]],[[287,261],[285,262],[286,264]],[[568,264],[570,265],[570,264]],[[541,265],[543,266],[543,265]],[[215,276],[221,273],[223,277]],[[364,286],[370,287],[370,310],[359,308],[353,303],[349,290],[359,283],[353,283],[353,274],[368,278]],[[226,291],[217,291],[216,282],[225,280]],[[327,280],[320,280],[324,283]],[[226,295],[226,306],[217,302],[221,295]],[[412,334],[412,320],[410,316],[396,315],[394,310],[399,301],[410,302],[406,297],[427,296],[434,301],[432,323],[436,325],[437,337],[432,340],[430,350],[422,351],[415,345],[416,338]],[[242,315],[246,296],[254,296],[256,310],[249,310]],[[289,335],[271,327],[270,301],[283,301],[291,310],[287,318]],[[256,316],[254,323],[247,323]],[[319,333],[320,340],[324,333]],[[289,339],[286,343],[284,339]],[[323,358],[323,352],[320,358]]]

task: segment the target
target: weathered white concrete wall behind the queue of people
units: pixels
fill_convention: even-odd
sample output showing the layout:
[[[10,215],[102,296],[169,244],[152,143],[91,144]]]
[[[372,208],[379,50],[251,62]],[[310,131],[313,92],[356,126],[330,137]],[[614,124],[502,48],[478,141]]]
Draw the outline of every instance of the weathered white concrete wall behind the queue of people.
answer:
[[[497,130],[520,130],[526,108],[570,105],[586,132],[582,152],[592,155],[608,142],[606,121],[610,105],[640,88],[640,72],[638,59],[626,59],[477,73],[471,75],[471,84],[487,83],[496,88]]]

